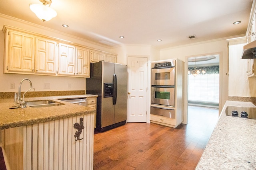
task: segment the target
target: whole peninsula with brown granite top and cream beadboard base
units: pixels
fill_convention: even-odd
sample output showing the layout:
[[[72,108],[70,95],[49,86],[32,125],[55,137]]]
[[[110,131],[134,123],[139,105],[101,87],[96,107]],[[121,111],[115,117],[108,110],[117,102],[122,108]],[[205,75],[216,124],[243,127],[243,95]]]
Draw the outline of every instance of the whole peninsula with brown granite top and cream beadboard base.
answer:
[[[96,109],[58,99],[95,98],[95,95],[26,98],[52,100],[60,106],[9,109],[13,99],[0,99],[0,129],[4,129],[3,152],[10,169],[92,169]],[[82,118],[82,119],[81,119]],[[83,125],[74,137],[74,124]]]

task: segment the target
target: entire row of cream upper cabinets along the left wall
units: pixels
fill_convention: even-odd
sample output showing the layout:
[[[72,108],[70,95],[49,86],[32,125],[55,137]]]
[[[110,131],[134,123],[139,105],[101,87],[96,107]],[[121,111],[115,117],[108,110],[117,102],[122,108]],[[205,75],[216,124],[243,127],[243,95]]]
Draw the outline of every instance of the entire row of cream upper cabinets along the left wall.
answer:
[[[4,25],[4,73],[90,77],[90,62],[116,55]]]

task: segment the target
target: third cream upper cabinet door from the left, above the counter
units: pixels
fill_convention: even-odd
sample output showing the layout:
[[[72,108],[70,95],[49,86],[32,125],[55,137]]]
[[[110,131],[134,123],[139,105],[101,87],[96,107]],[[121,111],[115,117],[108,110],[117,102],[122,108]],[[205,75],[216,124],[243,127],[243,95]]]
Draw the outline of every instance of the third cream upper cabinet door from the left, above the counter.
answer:
[[[60,75],[75,75],[75,46],[59,43],[58,54],[58,74]]]

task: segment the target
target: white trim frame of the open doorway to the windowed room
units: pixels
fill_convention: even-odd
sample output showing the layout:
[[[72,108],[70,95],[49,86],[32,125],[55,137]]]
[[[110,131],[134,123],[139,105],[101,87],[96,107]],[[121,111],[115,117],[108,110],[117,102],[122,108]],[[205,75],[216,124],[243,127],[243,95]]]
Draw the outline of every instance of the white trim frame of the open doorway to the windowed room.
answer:
[[[190,55],[185,57],[185,70],[188,70],[188,59],[189,58],[195,58],[195,57],[202,57],[207,55],[219,55],[220,56],[220,63],[219,63],[219,71],[220,71],[220,82],[219,82],[219,115],[222,111],[222,52],[215,52],[215,53],[206,53],[206,54],[198,54],[198,55]],[[182,123],[187,124],[188,123],[188,74],[185,73],[185,98],[184,98],[184,121]]]

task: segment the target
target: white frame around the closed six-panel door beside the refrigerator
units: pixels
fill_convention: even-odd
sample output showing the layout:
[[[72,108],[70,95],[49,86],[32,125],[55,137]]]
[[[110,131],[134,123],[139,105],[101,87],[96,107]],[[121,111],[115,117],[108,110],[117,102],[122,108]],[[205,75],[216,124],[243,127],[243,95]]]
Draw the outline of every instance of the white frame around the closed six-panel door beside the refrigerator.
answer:
[[[150,80],[151,80],[151,66],[150,66],[150,56],[149,55],[126,55],[126,63],[128,65],[128,57],[138,57],[138,58],[147,58],[147,106],[146,106],[146,122],[150,123]],[[129,75],[128,75],[128,81],[129,81]],[[127,87],[128,87],[128,81],[127,81]],[[127,88],[128,90],[128,88]],[[127,98],[128,100],[128,98]],[[128,101],[127,101],[127,108],[128,108]],[[127,110],[127,116],[128,116],[128,110]]]

